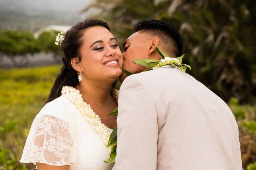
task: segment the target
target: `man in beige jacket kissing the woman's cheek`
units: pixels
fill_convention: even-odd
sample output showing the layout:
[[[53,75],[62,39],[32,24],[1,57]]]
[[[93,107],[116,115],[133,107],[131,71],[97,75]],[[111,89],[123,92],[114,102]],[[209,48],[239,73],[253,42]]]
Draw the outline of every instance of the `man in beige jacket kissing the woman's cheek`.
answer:
[[[236,120],[217,95],[179,68],[152,71],[133,60],[182,55],[171,25],[141,21],[123,44],[113,170],[242,170]]]

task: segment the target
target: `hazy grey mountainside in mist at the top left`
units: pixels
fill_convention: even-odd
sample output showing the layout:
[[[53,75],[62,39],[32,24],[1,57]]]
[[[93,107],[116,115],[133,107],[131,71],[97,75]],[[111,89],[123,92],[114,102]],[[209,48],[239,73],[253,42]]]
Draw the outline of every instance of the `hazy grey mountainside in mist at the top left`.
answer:
[[[0,29],[37,31],[46,25],[73,25],[92,0],[0,0]]]

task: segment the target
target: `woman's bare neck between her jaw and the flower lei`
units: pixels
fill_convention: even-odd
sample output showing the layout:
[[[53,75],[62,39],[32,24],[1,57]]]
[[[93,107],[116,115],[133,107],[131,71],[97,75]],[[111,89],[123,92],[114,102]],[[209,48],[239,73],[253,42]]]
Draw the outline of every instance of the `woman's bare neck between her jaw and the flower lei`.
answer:
[[[87,103],[104,104],[111,100],[111,83],[81,81],[76,89],[80,91]]]

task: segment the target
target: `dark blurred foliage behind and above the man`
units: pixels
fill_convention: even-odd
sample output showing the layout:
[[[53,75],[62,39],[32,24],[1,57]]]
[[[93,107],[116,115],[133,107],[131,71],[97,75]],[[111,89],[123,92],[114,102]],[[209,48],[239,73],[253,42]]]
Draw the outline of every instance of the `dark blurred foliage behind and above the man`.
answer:
[[[109,23],[119,41],[141,20],[174,25],[193,77],[225,101],[255,103],[255,0],[95,0],[82,12],[90,8],[100,9],[98,18]]]

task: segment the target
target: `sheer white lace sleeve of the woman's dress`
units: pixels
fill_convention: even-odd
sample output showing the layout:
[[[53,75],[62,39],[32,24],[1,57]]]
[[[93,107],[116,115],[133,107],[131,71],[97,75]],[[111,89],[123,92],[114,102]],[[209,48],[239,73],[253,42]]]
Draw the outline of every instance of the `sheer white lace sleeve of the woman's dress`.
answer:
[[[74,162],[68,123],[60,118],[40,115],[35,118],[20,162],[70,165]]]

